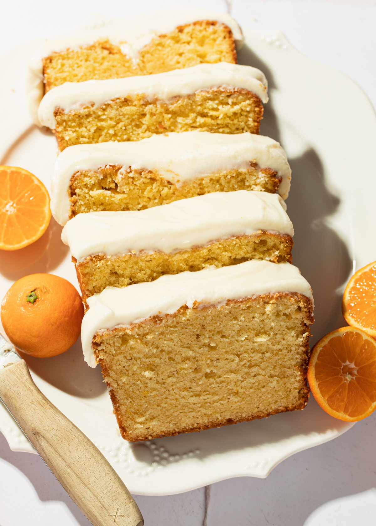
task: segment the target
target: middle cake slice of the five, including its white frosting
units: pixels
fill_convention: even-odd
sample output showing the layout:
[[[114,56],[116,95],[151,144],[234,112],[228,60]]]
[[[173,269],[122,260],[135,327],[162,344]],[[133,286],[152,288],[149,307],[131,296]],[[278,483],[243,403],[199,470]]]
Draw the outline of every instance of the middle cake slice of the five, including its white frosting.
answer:
[[[275,140],[185,131],[127,143],[76,145],[56,161],[51,210],[76,214],[141,210],[215,191],[262,190],[286,199],[291,169]]]

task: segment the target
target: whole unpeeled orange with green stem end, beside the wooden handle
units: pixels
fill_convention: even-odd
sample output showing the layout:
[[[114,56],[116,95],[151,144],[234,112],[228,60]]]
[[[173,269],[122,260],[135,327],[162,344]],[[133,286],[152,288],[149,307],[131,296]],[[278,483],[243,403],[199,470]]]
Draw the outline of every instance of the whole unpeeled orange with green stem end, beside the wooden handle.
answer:
[[[81,331],[84,307],[73,285],[53,274],[31,274],[16,281],[1,305],[4,330],[28,355],[60,355]]]

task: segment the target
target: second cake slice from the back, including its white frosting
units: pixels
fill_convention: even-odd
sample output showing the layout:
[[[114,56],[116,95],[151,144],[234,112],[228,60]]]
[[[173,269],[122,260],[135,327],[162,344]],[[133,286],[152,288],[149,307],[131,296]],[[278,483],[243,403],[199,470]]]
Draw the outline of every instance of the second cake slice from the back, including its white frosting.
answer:
[[[259,133],[266,92],[259,69],[199,64],[155,75],[66,82],[46,93],[38,118],[54,130],[60,150],[168,131]]]

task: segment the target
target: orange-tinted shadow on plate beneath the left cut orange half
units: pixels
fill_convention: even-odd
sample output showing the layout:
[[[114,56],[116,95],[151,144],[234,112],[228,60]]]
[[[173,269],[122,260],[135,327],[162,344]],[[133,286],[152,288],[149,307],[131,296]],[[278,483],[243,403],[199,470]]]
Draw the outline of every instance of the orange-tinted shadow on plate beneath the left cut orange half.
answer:
[[[68,254],[61,240],[62,227],[51,218],[43,236],[28,247],[14,251],[0,250],[0,272],[16,281],[23,276],[39,272],[52,272]]]

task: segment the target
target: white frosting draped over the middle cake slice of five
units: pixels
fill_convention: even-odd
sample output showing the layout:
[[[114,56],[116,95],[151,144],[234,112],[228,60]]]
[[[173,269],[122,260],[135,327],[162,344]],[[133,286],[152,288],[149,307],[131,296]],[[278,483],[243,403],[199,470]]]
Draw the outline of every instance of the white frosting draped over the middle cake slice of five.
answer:
[[[153,135],[126,143],[68,146],[58,156],[52,178],[52,215],[65,225],[70,214],[70,181],[78,171],[97,171],[106,165],[131,170],[152,170],[177,186],[185,181],[246,169],[250,161],[271,168],[282,177],[279,194],[289,195],[291,169],[285,151],[275,140],[250,133],[217,134],[184,131]]]

